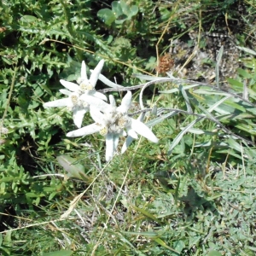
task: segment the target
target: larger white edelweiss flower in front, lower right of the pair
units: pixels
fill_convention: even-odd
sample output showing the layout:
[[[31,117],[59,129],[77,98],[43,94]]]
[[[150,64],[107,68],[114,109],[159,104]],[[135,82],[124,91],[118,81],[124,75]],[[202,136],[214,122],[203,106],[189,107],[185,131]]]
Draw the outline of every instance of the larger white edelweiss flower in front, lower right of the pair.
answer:
[[[113,96],[109,96],[110,104],[92,96],[81,96],[90,104],[90,115],[95,123],[87,125],[75,131],[67,133],[67,137],[80,137],[99,132],[106,137],[106,160],[111,160],[118,147],[119,137],[128,135],[137,139],[137,133],[148,138],[153,143],[158,143],[157,137],[138,119],[132,119],[128,116],[128,109],[131,107],[131,91],[127,91],[121,105],[116,107]]]

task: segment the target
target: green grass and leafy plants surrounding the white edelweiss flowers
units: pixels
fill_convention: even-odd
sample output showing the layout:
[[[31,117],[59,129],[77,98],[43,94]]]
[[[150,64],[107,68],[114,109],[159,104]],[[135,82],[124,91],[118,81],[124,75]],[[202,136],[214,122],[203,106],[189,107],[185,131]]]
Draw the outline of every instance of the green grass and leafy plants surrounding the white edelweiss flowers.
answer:
[[[21,2],[0,4],[0,254],[254,255],[253,1]],[[240,67],[223,77],[218,55],[215,79],[188,79],[196,48],[183,57],[184,45],[197,45],[189,32],[204,50],[218,26],[241,47]],[[125,87],[146,83],[133,74],[155,75],[176,39],[177,79],[132,90],[132,117],[142,93],[159,143],[139,138],[106,163],[104,137],[66,137],[72,114],[43,108],[83,60],[94,68],[105,59],[102,74]],[[109,94],[118,105],[125,96]],[[86,113],[83,126],[91,122]]]

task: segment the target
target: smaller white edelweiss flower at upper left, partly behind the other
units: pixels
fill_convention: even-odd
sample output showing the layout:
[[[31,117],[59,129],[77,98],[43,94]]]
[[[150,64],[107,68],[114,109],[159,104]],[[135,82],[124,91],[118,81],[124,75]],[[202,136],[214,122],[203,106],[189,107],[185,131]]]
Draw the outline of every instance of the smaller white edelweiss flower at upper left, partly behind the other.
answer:
[[[89,111],[89,104],[81,99],[82,95],[89,95],[107,101],[107,97],[95,90],[97,79],[102,71],[104,60],[101,60],[96,68],[91,72],[90,79],[87,79],[85,62],[82,62],[81,77],[78,79],[78,84],[60,80],[61,84],[67,88],[61,89],[61,93],[67,95],[65,99],[55,100],[53,102],[44,103],[45,108],[52,107],[67,107],[73,111],[73,122],[79,128],[82,125],[84,114]]]

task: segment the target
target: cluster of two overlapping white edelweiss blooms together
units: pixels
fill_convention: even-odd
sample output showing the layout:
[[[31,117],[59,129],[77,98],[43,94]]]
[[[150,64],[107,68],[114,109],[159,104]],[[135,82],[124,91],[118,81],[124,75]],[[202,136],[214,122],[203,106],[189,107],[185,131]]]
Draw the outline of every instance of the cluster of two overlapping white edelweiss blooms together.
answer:
[[[82,137],[96,132],[106,137],[106,160],[108,161],[113,158],[120,136],[128,134],[128,138],[137,139],[137,134],[139,134],[153,143],[158,143],[158,139],[142,121],[128,116],[128,110],[131,107],[131,91],[127,91],[119,107],[116,106],[112,95],[109,96],[109,103],[107,103],[107,96],[96,91],[95,86],[98,79],[101,79],[108,86],[120,86],[102,76],[103,64],[104,61],[100,61],[96,68],[91,71],[90,79],[87,79],[86,66],[83,61],[78,84],[61,80],[61,84],[67,90],[60,91],[68,97],[44,103],[44,107],[67,107],[73,111],[73,121],[79,129],[68,132],[67,137]],[[81,128],[86,112],[90,112],[94,123]],[[124,144],[122,153],[125,152],[125,149]]]

